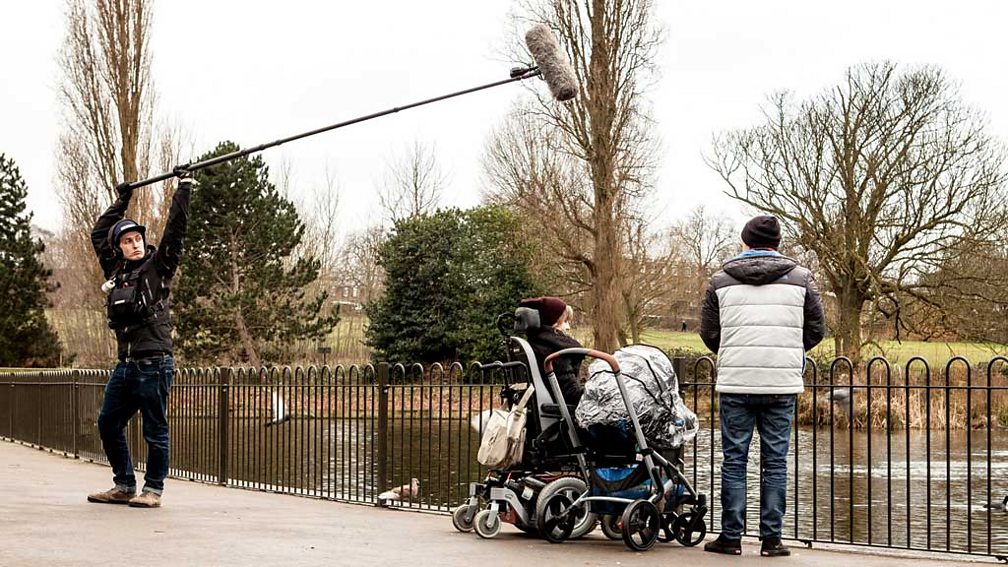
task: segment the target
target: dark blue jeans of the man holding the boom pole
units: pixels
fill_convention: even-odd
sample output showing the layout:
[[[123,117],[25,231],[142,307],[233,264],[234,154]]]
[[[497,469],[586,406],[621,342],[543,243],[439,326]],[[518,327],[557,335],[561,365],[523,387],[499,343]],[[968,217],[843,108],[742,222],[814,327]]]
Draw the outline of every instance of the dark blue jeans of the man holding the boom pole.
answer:
[[[138,361],[119,362],[105,385],[105,400],[98,414],[102,448],[115,474],[116,487],[136,490],[133,461],[126,443],[126,424],[140,412],[143,438],[147,442],[147,473],[144,490],[158,494],[164,490],[168,474],[168,390],[175,373],[171,355]]]

